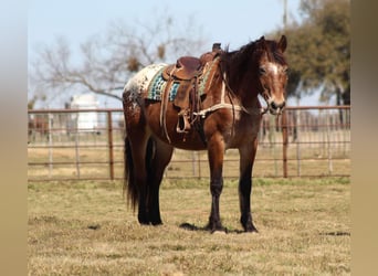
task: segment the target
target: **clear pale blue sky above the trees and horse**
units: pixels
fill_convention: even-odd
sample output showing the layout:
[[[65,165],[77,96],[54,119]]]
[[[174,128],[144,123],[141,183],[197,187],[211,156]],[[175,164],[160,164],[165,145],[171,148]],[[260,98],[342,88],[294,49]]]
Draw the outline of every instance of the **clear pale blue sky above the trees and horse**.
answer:
[[[301,20],[300,2],[287,0],[288,22]],[[57,38],[78,52],[81,43],[106,32],[109,24],[150,22],[156,13],[172,15],[177,24],[192,17],[209,42],[234,50],[283,26],[284,0],[30,0],[28,8],[28,59],[32,61],[38,49]]]

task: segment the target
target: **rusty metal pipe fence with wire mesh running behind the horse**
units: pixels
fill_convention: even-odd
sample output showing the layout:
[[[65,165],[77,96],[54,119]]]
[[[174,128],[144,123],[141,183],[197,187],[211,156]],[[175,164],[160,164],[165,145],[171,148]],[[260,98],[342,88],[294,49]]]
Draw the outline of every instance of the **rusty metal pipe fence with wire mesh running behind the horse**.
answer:
[[[122,109],[29,110],[29,181],[124,177]],[[258,178],[349,177],[350,107],[287,107],[264,115],[253,174]],[[206,151],[175,150],[168,179],[209,178]],[[227,151],[224,178],[239,178],[239,152]]]

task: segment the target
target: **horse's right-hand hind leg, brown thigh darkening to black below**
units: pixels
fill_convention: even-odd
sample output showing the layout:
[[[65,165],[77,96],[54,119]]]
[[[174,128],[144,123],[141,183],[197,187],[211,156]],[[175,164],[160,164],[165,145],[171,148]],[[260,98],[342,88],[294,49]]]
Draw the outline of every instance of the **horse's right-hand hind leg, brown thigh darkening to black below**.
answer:
[[[174,147],[160,140],[154,140],[154,157],[148,168],[148,212],[153,225],[161,224],[159,189],[164,177],[164,171],[169,163]]]

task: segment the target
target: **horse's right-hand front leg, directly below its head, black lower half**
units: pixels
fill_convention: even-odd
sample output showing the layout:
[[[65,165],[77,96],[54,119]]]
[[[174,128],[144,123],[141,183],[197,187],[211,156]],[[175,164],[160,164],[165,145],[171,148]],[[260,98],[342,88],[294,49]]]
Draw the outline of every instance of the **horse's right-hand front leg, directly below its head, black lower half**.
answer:
[[[240,152],[240,179],[239,179],[239,201],[240,201],[240,222],[245,232],[258,232],[253,225],[251,212],[252,193],[252,169],[258,149],[258,139],[255,138],[252,147],[243,147]]]

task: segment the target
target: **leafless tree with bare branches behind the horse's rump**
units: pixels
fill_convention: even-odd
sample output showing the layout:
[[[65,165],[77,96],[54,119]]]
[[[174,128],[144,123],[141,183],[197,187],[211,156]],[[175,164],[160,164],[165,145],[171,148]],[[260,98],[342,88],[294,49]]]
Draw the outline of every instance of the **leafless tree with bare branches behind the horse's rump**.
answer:
[[[201,53],[206,41],[195,22],[188,18],[180,28],[167,15],[135,26],[113,22],[107,33],[93,35],[81,45],[78,62],[66,40],[60,38],[36,53],[30,81],[39,87],[40,97],[48,99],[74,87],[122,99],[119,89],[143,66]]]

